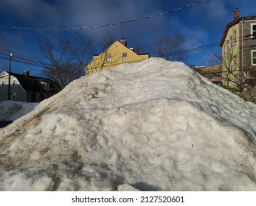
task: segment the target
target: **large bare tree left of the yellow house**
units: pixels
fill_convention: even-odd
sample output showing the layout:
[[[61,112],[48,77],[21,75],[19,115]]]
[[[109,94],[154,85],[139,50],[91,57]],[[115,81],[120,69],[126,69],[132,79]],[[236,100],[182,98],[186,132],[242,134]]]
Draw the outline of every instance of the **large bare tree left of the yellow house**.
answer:
[[[84,68],[94,53],[94,43],[88,36],[76,35],[58,42],[38,40],[37,43],[42,54],[39,59],[44,66],[42,73],[56,82],[58,90],[84,75]]]

